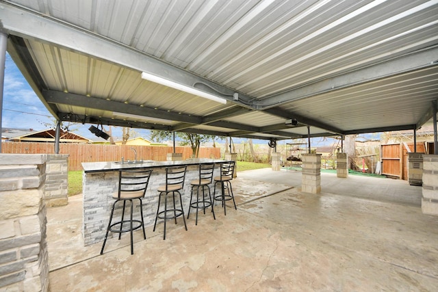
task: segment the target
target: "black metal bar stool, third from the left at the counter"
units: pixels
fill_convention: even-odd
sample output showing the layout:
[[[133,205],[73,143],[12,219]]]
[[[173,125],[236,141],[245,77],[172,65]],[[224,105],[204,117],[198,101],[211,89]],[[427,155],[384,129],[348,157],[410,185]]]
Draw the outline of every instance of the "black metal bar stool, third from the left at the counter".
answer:
[[[214,215],[213,209],[213,201],[211,200],[210,187],[211,181],[213,180],[213,172],[214,172],[214,163],[203,163],[199,164],[198,167],[199,176],[198,178],[190,181],[190,185],[192,185],[192,191],[190,192],[190,204],[189,204],[189,212],[187,214],[187,219],[190,216],[190,208],[196,208],[196,223],[198,225],[198,209],[203,209],[205,214],[205,209],[211,206],[211,212],[213,213],[214,220],[216,220],[216,216]],[[208,190],[208,196],[205,196],[205,189]],[[202,198],[199,198],[200,189],[203,192]],[[194,192],[196,191],[196,200],[193,200]]]

